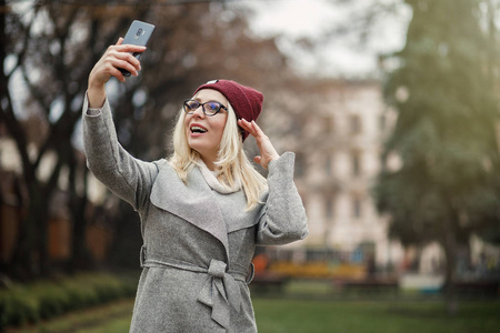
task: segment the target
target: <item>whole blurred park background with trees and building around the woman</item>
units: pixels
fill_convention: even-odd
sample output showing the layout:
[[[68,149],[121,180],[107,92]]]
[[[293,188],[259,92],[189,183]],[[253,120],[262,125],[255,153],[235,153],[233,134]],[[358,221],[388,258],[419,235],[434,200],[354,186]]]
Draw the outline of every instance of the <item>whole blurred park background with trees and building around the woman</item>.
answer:
[[[181,102],[220,78],[262,91],[259,123],[297,154],[310,235],[258,249],[260,332],[498,331],[499,16],[498,0],[0,0],[0,331],[128,332],[139,216],[86,168],[80,118],[134,19],[157,27],[142,71],[107,85],[129,152],[170,155]]]

